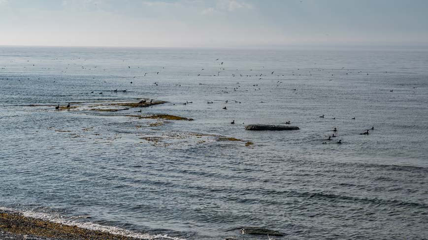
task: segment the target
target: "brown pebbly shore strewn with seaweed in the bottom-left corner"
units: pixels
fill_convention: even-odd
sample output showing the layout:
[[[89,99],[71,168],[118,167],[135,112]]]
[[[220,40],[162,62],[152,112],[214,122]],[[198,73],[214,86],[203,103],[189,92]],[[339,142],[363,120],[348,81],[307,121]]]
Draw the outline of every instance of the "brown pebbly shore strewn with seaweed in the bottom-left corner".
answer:
[[[115,235],[99,230],[89,230],[74,225],[54,223],[38,218],[26,217],[20,213],[0,210],[0,230],[11,234],[32,235],[39,238],[62,240],[136,240],[136,238]]]

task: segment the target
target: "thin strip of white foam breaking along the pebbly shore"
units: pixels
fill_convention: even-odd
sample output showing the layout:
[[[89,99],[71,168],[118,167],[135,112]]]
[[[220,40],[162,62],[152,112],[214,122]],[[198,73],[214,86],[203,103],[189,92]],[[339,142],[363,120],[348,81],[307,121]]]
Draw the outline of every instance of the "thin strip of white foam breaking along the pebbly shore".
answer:
[[[180,238],[168,237],[166,234],[165,235],[141,234],[141,233],[134,233],[134,232],[131,232],[131,231],[123,229],[123,228],[103,226],[103,225],[93,223],[93,222],[77,222],[77,221],[71,220],[70,218],[62,217],[60,214],[53,215],[53,214],[48,214],[48,213],[43,213],[43,212],[34,212],[34,211],[30,211],[30,210],[18,211],[18,210],[14,210],[11,208],[4,208],[4,207],[0,207],[0,210],[20,212],[26,217],[33,217],[33,218],[42,219],[42,220],[46,220],[46,221],[50,221],[50,222],[54,222],[54,223],[60,223],[60,224],[68,225],[68,226],[77,226],[77,227],[85,228],[85,229],[89,229],[89,230],[107,232],[110,234],[132,237],[132,238],[136,238],[136,239],[143,239],[143,240],[155,240],[155,239],[185,240],[185,239],[180,239]]]

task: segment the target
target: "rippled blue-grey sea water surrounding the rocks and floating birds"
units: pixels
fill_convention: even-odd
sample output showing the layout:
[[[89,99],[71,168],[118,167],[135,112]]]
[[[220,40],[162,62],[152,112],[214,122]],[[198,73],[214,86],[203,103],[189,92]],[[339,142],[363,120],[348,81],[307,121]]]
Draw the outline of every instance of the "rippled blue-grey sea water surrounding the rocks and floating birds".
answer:
[[[150,238],[428,238],[427,53],[1,47],[0,207]],[[195,120],[54,109],[137,98]]]

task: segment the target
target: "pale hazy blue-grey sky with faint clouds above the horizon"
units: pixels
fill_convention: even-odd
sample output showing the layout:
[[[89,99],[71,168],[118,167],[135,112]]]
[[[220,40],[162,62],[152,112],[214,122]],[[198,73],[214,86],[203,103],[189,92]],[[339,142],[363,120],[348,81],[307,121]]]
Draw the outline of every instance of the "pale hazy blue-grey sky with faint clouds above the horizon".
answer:
[[[428,46],[428,0],[0,0],[0,45]]]

